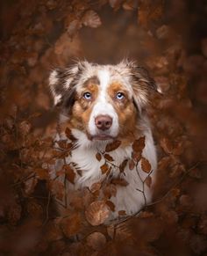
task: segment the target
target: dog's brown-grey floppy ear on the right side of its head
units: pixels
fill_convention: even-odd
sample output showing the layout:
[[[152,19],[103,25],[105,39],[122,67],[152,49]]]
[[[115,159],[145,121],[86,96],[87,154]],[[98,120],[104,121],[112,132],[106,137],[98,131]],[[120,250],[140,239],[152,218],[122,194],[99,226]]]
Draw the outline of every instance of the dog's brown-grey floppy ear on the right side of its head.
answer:
[[[139,110],[141,110],[148,103],[152,91],[158,91],[157,84],[150,77],[148,71],[143,67],[139,67],[136,62],[125,60],[122,64],[125,64],[125,67],[128,69],[134,93],[134,102]]]

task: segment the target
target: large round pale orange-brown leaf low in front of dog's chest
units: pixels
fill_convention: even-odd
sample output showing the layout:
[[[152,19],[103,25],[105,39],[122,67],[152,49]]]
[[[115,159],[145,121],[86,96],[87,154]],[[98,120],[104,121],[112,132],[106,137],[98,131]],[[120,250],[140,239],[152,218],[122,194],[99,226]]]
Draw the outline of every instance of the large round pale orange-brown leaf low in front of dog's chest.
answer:
[[[85,211],[86,219],[92,226],[104,223],[109,215],[110,210],[105,201],[93,201]]]

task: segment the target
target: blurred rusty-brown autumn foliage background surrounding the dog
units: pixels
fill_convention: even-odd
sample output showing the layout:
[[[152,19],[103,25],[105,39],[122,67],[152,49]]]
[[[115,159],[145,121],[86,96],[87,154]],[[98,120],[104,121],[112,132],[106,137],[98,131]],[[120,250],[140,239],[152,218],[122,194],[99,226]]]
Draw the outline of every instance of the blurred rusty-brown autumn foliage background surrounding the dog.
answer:
[[[1,253],[207,255],[206,2],[10,0],[1,1],[0,13]],[[47,80],[52,69],[76,59],[123,58],[146,67],[162,91],[147,109],[159,202],[125,222],[116,238],[109,228],[89,237],[94,229],[82,231],[71,216],[74,230],[60,228],[54,187],[39,169],[48,161],[42,150],[51,149],[58,115]],[[81,241],[72,239],[78,232]]]

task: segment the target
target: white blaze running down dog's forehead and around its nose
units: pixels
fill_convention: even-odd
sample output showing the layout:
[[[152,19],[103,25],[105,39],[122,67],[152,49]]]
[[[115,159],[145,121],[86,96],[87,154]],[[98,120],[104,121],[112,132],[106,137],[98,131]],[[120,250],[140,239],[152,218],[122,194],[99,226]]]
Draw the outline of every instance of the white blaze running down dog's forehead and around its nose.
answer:
[[[114,107],[109,102],[110,96],[108,95],[107,88],[110,84],[111,74],[109,69],[104,67],[97,71],[97,77],[99,80],[98,85],[98,96],[96,99],[96,104],[93,107],[93,110],[89,118],[89,133],[90,135],[97,135],[100,133],[98,128],[96,128],[95,119],[98,115],[109,115],[112,118],[112,125],[107,134],[111,136],[118,135],[118,114],[116,113]]]

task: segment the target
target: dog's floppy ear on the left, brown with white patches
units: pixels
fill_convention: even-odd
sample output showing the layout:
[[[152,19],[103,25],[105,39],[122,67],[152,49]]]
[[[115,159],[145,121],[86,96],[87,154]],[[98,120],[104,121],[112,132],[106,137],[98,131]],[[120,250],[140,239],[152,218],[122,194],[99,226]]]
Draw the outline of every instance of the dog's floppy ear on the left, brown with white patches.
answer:
[[[79,71],[76,64],[68,69],[54,69],[49,76],[49,87],[54,97],[54,106],[60,106],[64,95],[72,88],[72,82]]]

